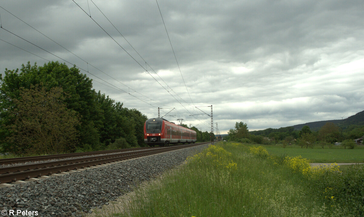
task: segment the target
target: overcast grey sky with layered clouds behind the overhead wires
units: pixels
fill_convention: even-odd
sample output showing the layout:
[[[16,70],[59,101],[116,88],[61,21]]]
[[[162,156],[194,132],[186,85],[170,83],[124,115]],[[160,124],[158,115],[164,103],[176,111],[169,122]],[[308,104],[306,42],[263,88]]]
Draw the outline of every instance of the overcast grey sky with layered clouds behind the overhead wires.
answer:
[[[0,0],[0,73],[67,61],[148,118],[172,107],[164,118],[210,131],[209,116],[190,115],[213,105],[220,133],[240,121],[260,130],[364,110],[363,0],[158,0],[175,56],[156,1],[75,2]]]

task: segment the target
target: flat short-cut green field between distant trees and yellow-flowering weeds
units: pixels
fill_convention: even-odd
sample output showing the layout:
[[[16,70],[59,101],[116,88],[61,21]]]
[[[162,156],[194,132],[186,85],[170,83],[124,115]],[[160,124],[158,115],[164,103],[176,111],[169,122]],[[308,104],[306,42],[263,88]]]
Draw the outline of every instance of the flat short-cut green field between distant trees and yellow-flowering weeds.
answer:
[[[300,146],[287,146],[283,148],[279,145],[264,145],[269,153],[275,155],[288,155],[295,157],[301,155],[304,158],[310,159],[313,163],[363,163],[364,162],[364,149],[322,149],[322,148],[301,148]]]

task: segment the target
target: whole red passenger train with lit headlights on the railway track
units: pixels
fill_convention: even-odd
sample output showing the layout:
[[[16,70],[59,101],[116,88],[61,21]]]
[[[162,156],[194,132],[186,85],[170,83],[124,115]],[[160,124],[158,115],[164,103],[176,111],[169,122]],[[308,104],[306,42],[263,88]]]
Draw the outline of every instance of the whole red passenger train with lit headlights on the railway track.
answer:
[[[163,118],[150,118],[144,123],[144,142],[149,146],[195,143],[196,131]]]

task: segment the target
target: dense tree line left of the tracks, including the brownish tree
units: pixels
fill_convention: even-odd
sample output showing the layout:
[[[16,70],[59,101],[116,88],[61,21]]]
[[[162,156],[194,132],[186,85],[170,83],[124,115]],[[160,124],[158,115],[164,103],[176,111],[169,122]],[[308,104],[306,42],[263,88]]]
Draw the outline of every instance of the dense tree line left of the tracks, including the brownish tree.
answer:
[[[51,154],[144,146],[147,117],[92,89],[75,66],[22,64],[0,74],[0,151]],[[121,141],[121,142],[120,142]],[[122,144],[122,145],[120,145]]]

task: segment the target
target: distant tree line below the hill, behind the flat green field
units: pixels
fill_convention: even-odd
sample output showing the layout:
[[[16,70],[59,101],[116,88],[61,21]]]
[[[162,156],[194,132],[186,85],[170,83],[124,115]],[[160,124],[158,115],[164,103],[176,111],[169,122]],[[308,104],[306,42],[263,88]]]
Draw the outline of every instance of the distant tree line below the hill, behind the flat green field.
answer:
[[[301,147],[313,147],[314,145],[333,145],[342,142],[346,148],[354,148],[353,139],[364,136],[364,125],[350,125],[341,129],[335,123],[327,122],[318,131],[311,131],[309,126],[303,126],[301,130],[294,127],[281,127],[279,129],[268,128],[249,132],[248,126],[243,122],[236,122],[235,129],[230,129],[225,140],[245,143],[276,144],[281,143],[284,147],[289,144],[297,144]]]

